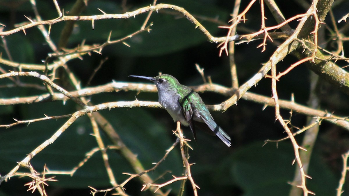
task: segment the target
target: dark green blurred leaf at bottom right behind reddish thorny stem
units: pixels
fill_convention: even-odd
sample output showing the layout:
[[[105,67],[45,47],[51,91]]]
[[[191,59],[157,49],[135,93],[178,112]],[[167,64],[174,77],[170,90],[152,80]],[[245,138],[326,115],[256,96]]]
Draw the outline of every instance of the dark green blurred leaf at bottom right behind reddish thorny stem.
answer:
[[[230,167],[231,180],[244,191],[244,196],[288,195],[297,163],[292,166],[294,151],[290,142],[275,144],[255,142],[237,150],[228,157],[222,168]],[[223,166],[225,165],[225,166]],[[307,180],[309,190],[316,195],[332,195],[336,179],[315,151],[310,162]],[[321,171],[321,172],[319,172]],[[227,179],[225,179],[227,180]],[[220,183],[220,181],[218,181]]]

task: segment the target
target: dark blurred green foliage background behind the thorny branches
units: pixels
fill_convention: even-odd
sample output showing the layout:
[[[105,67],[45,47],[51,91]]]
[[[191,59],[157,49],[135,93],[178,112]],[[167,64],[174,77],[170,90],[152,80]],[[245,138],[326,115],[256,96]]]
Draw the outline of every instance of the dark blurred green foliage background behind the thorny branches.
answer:
[[[126,2],[125,6],[122,6]],[[242,1],[241,8],[245,8],[250,1]],[[336,1],[335,1],[336,2]],[[43,20],[51,20],[58,16],[52,1],[37,0],[37,8]],[[58,1],[64,13],[69,15],[74,1]],[[148,6],[151,1],[112,1],[91,0],[81,15],[101,14],[99,9],[105,13],[125,13],[140,7]],[[196,17],[202,25],[214,36],[226,36],[227,30],[218,28],[221,25],[229,25],[231,19],[229,14],[233,9],[233,1],[227,0],[159,0],[158,3],[169,3],[186,9]],[[277,5],[286,18],[296,14],[304,13],[306,9],[300,7],[297,1],[277,0]],[[349,1],[341,1],[333,8],[334,17],[339,20],[347,14]],[[126,10],[125,10],[126,9]],[[277,24],[273,16],[266,9],[267,26]],[[32,6],[28,0],[1,0],[0,1],[0,23],[6,25],[2,31],[16,27],[17,24],[28,22],[24,17],[35,18]],[[134,31],[142,25],[147,14],[138,15],[128,19],[110,19],[94,22],[92,30],[91,22],[79,21],[74,25],[71,37],[66,48],[74,48],[83,41],[86,44],[103,43],[109,36],[111,39],[119,39]],[[246,23],[243,28],[237,30],[238,34],[260,29],[260,7],[255,3],[246,14]],[[153,23],[151,31],[142,32],[125,42],[131,46],[117,43],[106,46],[101,54],[92,52],[83,55],[82,59],[74,59],[67,62],[68,67],[81,81],[81,87],[98,86],[110,83],[112,80],[125,82],[143,82],[128,78],[128,75],[156,76],[159,72],[173,75],[184,85],[200,85],[202,78],[195,68],[195,63],[205,69],[205,75],[210,76],[213,83],[230,87],[231,76],[229,58],[226,55],[218,56],[217,44],[209,43],[201,31],[183,15],[173,10],[159,10],[154,12],[149,22]],[[331,23],[326,20],[328,29]],[[291,22],[292,28],[298,24]],[[65,22],[52,25],[51,39],[54,43],[59,42],[60,33]],[[347,25],[338,23],[338,25]],[[47,28],[47,27],[46,27]],[[322,28],[326,28],[323,25]],[[0,47],[1,58],[13,60],[18,63],[32,63],[42,65],[48,53],[52,53],[45,42],[45,38],[37,28],[30,28],[23,32],[17,32],[6,36]],[[324,38],[330,40],[331,31],[324,30]],[[343,32],[348,35],[348,31]],[[279,40],[275,40],[278,43]],[[281,40],[280,40],[281,42]],[[266,62],[275,51],[277,44],[268,42],[267,50],[263,53],[257,46],[261,41],[255,41],[236,45],[236,64],[240,83],[250,79],[260,68],[261,63]],[[319,42],[320,44],[320,42]],[[322,44],[322,42],[321,42]],[[348,50],[348,43],[344,45],[344,51]],[[8,55],[10,54],[10,55]],[[348,55],[348,53],[346,53]],[[100,61],[108,58],[88,84],[94,70]],[[284,70],[290,64],[296,62],[293,56],[288,56],[277,64],[277,68]],[[341,64],[342,63],[342,64]],[[345,63],[338,62],[345,66]],[[0,65],[3,70],[14,70],[13,67]],[[348,68],[344,68],[348,69]],[[300,65],[278,82],[279,98],[290,100],[294,93],[295,102],[307,105],[310,91],[310,70]],[[42,84],[36,78],[20,77],[23,83]],[[57,83],[64,80],[63,76]],[[13,87],[8,88],[8,79],[0,80],[1,98],[15,98],[41,95],[46,93],[45,89]],[[71,87],[60,84],[67,90]],[[348,116],[348,95],[333,88],[324,80],[320,80],[320,109],[334,112],[339,116]],[[271,96],[270,78],[261,80],[251,92],[260,95]],[[93,104],[106,103],[109,101],[130,101],[135,96],[139,100],[157,101],[157,93],[139,93],[135,91],[106,92],[88,97]],[[219,104],[228,99],[217,93],[206,92],[201,95],[206,104]],[[13,119],[29,120],[42,118],[44,115],[57,116],[70,114],[76,111],[76,104],[67,101],[48,101],[35,104],[1,105],[0,124],[13,123]],[[111,111],[101,111],[104,117],[112,123],[112,126],[120,134],[121,139],[127,144],[145,168],[152,167],[152,163],[159,161],[165,150],[176,140],[172,135],[175,123],[163,109],[152,108],[115,108]],[[275,122],[275,111],[272,107],[263,110],[263,105],[251,101],[239,100],[237,105],[230,107],[226,112],[211,112],[215,121],[232,138],[232,147],[228,148],[218,138],[204,133],[197,133],[198,140],[192,141],[194,150],[190,151],[190,162],[196,163],[192,166],[195,182],[199,185],[199,195],[236,195],[236,196],[278,196],[288,195],[290,184],[293,179],[296,165],[292,166],[294,152],[289,141],[283,141],[276,148],[275,143],[267,143],[267,139],[279,139],[286,136],[282,127]],[[284,118],[289,116],[288,110],[282,110]],[[296,127],[306,125],[307,116],[294,113],[291,123]],[[30,125],[17,125],[9,129],[0,128],[0,174],[8,173],[16,161],[22,160],[36,146],[49,138],[62,124],[65,119],[40,121]],[[191,132],[184,128],[185,135],[192,139]],[[92,137],[92,128],[89,119],[84,116],[78,119],[68,130],[62,134],[57,141],[40,152],[31,164],[34,168],[42,169],[44,164],[51,170],[70,170],[79,163],[85,153],[97,146]],[[299,143],[302,134],[296,136]],[[106,144],[110,141],[105,135],[102,136]],[[340,179],[342,169],[341,154],[349,148],[348,130],[323,122],[315,143],[315,148],[310,161],[308,187],[317,196],[335,195],[335,190]],[[113,150],[108,150],[111,167],[116,175],[117,181],[121,182],[128,176],[122,173],[134,173],[132,168]],[[23,169],[25,171],[25,169]],[[171,172],[169,172],[171,171]],[[179,149],[175,149],[166,158],[164,163],[150,173],[153,179],[163,177],[159,181],[171,179],[171,175],[180,176],[183,172]],[[58,182],[50,182],[46,188],[51,196],[58,195],[88,195],[92,186],[98,189],[109,188],[101,153],[97,152],[92,158],[73,176],[57,175]],[[1,183],[0,196],[39,195],[26,191],[25,183],[29,178],[11,178],[8,182]],[[180,183],[176,182],[163,190],[172,189],[170,195],[178,194]],[[142,184],[138,180],[132,180],[126,185],[126,193],[129,195],[152,195],[149,191],[140,192]],[[190,186],[186,187],[185,194],[192,195]],[[344,184],[342,195],[349,195],[348,183]],[[108,193],[109,194],[109,193]],[[101,194],[103,195],[103,194]]]

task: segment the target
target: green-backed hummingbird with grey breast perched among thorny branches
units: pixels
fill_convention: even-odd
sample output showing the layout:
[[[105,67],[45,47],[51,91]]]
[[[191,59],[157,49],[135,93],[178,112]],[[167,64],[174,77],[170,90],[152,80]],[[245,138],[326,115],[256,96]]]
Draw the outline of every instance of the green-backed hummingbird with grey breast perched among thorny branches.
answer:
[[[231,146],[229,135],[217,125],[199,94],[191,88],[179,84],[176,78],[168,74],[156,77],[136,75],[128,77],[154,82],[158,91],[159,103],[172,116],[174,122],[180,121],[182,125],[190,127],[195,140],[195,129],[199,128],[210,135],[218,136],[227,146]]]

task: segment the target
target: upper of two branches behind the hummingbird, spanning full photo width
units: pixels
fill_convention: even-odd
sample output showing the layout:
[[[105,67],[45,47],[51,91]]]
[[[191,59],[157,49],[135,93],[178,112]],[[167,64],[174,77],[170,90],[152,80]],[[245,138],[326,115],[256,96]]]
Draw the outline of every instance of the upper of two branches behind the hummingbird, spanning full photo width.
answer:
[[[229,88],[226,88],[221,85],[217,84],[204,84],[200,86],[191,86],[192,89],[194,89],[196,92],[216,92],[220,93],[225,96],[231,96],[234,94],[234,90],[231,90]],[[113,92],[113,91],[141,91],[141,92],[157,92],[156,86],[153,84],[140,84],[140,83],[128,83],[128,82],[112,82],[109,84],[101,85],[101,86],[95,86],[91,88],[84,88],[78,91],[72,91],[70,92],[75,97],[84,97],[84,96],[91,96],[98,93],[104,93],[104,92]],[[14,105],[14,104],[29,104],[29,103],[36,103],[41,102],[49,98],[49,94],[43,94],[38,96],[32,96],[32,97],[22,97],[14,99],[0,99],[0,105]],[[61,93],[54,93],[54,99],[52,100],[65,100],[65,96]],[[265,106],[275,106],[275,103],[272,99],[266,96],[258,95],[256,93],[252,92],[246,92],[243,96],[243,99],[248,101],[253,101],[255,103],[263,104]],[[124,102],[126,103],[126,102]],[[150,102],[151,105],[155,102]],[[334,123],[337,126],[341,126],[347,130],[349,130],[349,122],[346,120],[346,117],[340,117],[333,115],[330,112],[322,111],[322,110],[315,110],[310,107],[306,107],[297,103],[294,103],[292,101],[288,100],[279,100],[279,104],[281,108],[285,108],[288,110],[294,110],[298,113],[309,115],[309,116],[319,116],[319,117],[325,117],[322,118],[323,120],[329,121],[331,123]],[[151,107],[151,106],[150,106]],[[213,111],[222,111],[222,110],[216,110],[215,106],[208,105],[208,108]],[[6,125],[3,125],[6,127]]]

